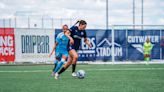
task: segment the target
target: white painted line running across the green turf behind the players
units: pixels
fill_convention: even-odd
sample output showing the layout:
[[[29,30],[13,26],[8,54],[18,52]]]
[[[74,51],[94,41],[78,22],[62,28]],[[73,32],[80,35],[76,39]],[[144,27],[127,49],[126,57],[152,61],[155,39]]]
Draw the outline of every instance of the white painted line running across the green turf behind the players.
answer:
[[[150,71],[150,70],[164,70],[164,68],[120,68],[120,69],[84,69],[86,71]],[[23,72],[51,72],[52,70],[24,70],[24,71],[0,71],[0,73],[23,73]],[[71,71],[71,70],[67,70]]]

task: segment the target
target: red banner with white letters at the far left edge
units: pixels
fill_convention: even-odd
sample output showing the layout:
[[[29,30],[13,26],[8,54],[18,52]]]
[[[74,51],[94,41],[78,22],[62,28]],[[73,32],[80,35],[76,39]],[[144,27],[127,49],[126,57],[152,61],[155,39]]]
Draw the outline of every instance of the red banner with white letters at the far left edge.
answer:
[[[0,28],[0,62],[14,62],[14,28]]]

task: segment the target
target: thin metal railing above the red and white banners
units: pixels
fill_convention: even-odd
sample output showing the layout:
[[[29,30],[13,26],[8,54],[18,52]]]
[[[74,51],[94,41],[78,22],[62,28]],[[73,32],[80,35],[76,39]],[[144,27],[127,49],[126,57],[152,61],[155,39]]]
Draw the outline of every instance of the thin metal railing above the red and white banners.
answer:
[[[63,24],[71,26],[75,19],[69,18],[30,18],[15,17],[9,19],[0,19],[2,28],[61,28]]]

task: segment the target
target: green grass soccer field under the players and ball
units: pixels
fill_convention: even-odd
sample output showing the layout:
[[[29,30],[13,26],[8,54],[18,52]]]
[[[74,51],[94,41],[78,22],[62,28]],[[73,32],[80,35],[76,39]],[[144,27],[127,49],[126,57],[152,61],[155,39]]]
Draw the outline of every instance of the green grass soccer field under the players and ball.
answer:
[[[84,79],[50,76],[52,65],[0,66],[0,92],[164,92],[164,64],[77,65]]]

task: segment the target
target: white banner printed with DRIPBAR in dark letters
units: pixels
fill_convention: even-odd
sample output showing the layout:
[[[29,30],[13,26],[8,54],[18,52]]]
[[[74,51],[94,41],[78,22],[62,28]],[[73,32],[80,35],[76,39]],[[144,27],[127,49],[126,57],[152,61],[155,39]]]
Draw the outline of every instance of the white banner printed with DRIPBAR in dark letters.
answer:
[[[47,62],[54,45],[52,29],[15,29],[16,62]]]

